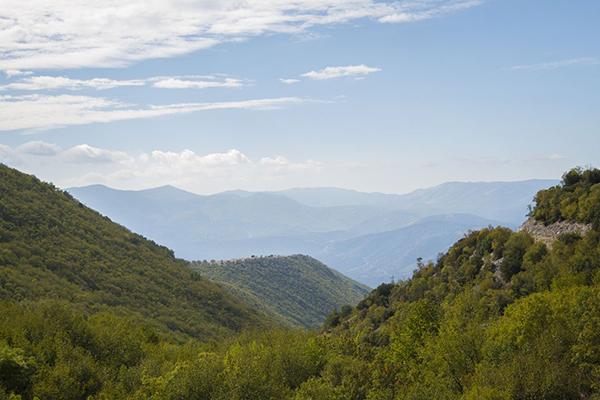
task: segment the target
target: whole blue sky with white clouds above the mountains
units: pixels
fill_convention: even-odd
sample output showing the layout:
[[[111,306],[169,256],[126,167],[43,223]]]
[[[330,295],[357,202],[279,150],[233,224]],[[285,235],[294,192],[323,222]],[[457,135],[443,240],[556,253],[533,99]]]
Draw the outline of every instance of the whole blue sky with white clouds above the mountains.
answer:
[[[123,5],[125,4],[125,5]],[[596,0],[3,0],[0,162],[196,193],[600,164]]]

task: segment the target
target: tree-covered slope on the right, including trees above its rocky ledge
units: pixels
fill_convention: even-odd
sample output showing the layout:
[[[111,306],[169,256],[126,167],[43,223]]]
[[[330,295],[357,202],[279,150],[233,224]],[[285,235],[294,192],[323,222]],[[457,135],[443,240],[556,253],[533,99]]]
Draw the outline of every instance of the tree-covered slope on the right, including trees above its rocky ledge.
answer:
[[[550,247],[507,228],[470,233],[411,279],[331,315],[325,347],[343,350],[297,397],[597,398],[600,170],[572,175],[540,191],[531,214],[585,230]]]

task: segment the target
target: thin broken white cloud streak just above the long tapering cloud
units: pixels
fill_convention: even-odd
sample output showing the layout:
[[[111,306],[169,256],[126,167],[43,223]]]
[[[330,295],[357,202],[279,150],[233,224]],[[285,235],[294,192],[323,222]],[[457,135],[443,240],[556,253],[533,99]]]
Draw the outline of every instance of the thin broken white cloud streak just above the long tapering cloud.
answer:
[[[18,76],[18,75],[17,75]],[[6,85],[0,90],[106,90],[117,87],[151,85],[161,89],[239,88],[248,82],[226,76],[157,76],[146,79],[116,80],[109,78],[72,79],[64,76],[27,76]]]

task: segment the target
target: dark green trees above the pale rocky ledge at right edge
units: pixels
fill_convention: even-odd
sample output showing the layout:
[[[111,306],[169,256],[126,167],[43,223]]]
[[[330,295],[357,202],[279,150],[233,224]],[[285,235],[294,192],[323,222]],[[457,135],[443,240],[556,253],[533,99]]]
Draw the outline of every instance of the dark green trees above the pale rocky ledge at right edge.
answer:
[[[600,229],[600,169],[568,171],[560,185],[538,192],[535,202],[531,215],[545,224],[569,220]]]

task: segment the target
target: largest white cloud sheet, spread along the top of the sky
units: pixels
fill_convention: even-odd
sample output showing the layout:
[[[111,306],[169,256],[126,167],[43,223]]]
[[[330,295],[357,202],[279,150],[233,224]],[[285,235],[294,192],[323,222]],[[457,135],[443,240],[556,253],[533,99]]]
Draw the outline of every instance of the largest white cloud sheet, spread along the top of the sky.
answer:
[[[0,69],[120,67],[269,33],[360,18],[408,22],[466,0],[3,0]],[[399,17],[401,16],[401,17]]]

